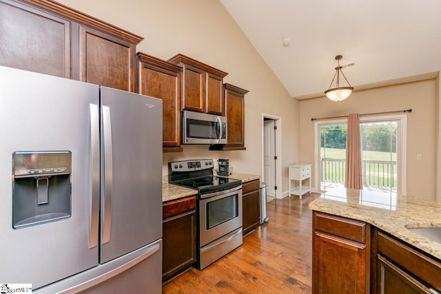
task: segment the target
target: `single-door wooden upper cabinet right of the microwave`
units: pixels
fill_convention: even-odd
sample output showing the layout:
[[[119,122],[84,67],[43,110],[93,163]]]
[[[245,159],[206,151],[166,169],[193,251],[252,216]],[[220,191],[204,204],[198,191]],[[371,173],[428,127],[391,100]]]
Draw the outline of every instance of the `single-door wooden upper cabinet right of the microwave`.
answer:
[[[223,85],[225,95],[225,116],[227,116],[227,144],[211,145],[210,150],[245,150],[245,94],[235,85]]]

